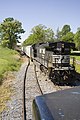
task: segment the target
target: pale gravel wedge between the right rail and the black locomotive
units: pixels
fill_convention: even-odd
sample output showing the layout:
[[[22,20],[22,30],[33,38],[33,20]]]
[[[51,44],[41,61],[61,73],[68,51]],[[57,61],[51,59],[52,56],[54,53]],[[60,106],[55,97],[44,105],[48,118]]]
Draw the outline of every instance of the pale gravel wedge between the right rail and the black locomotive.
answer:
[[[59,90],[64,90],[64,89],[69,89],[72,88],[72,86],[69,85],[55,85],[51,79],[48,78],[47,75],[45,75],[43,72],[40,72],[40,70],[37,68],[37,79],[40,85],[40,88],[43,92],[43,94],[51,93],[51,92],[56,92]]]

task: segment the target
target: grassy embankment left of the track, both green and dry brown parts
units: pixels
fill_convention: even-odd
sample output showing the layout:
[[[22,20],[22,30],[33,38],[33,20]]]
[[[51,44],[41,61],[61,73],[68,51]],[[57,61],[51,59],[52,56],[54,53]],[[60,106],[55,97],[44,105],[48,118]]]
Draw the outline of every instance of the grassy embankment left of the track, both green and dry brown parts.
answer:
[[[15,50],[0,46],[0,112],[4,110],[12,91],[10,81],[13,75],[9,71],[17,71],[20,65],[20,56]]]

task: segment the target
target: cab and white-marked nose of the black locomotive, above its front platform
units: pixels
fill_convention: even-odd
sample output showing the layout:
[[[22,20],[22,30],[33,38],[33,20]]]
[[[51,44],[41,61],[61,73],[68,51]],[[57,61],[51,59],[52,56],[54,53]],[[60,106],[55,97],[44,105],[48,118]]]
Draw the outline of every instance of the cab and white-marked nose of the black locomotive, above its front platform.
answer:
[[[55,67],[69,67],[70,66],[70,52],[75,48],[74,43],[55,42],[49,44],[51,51],[53,51],[53,66]],[[49,49],[48,49],[49,50]]]

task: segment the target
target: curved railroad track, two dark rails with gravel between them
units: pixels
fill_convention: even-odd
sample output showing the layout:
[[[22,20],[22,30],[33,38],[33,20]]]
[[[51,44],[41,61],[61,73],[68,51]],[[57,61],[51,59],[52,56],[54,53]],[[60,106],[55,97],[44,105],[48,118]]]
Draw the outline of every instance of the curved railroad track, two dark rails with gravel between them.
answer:
[[[36,66],[28,60],[23,82],[23,120],[32,120],[33,99],[42,94],[37,79]]]

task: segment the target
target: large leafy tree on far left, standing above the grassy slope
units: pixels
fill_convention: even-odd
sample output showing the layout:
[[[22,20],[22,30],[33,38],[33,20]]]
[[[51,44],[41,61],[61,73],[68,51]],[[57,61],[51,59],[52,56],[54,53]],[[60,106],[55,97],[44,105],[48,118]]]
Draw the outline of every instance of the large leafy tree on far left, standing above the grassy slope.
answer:
[[[10,49],[14,49],[21,39],[19,34],[24,33],[22,29],[22,23],[14,20],[13,18],[6,18],[0,24],[0,40],[3,46],[7,46]]]

